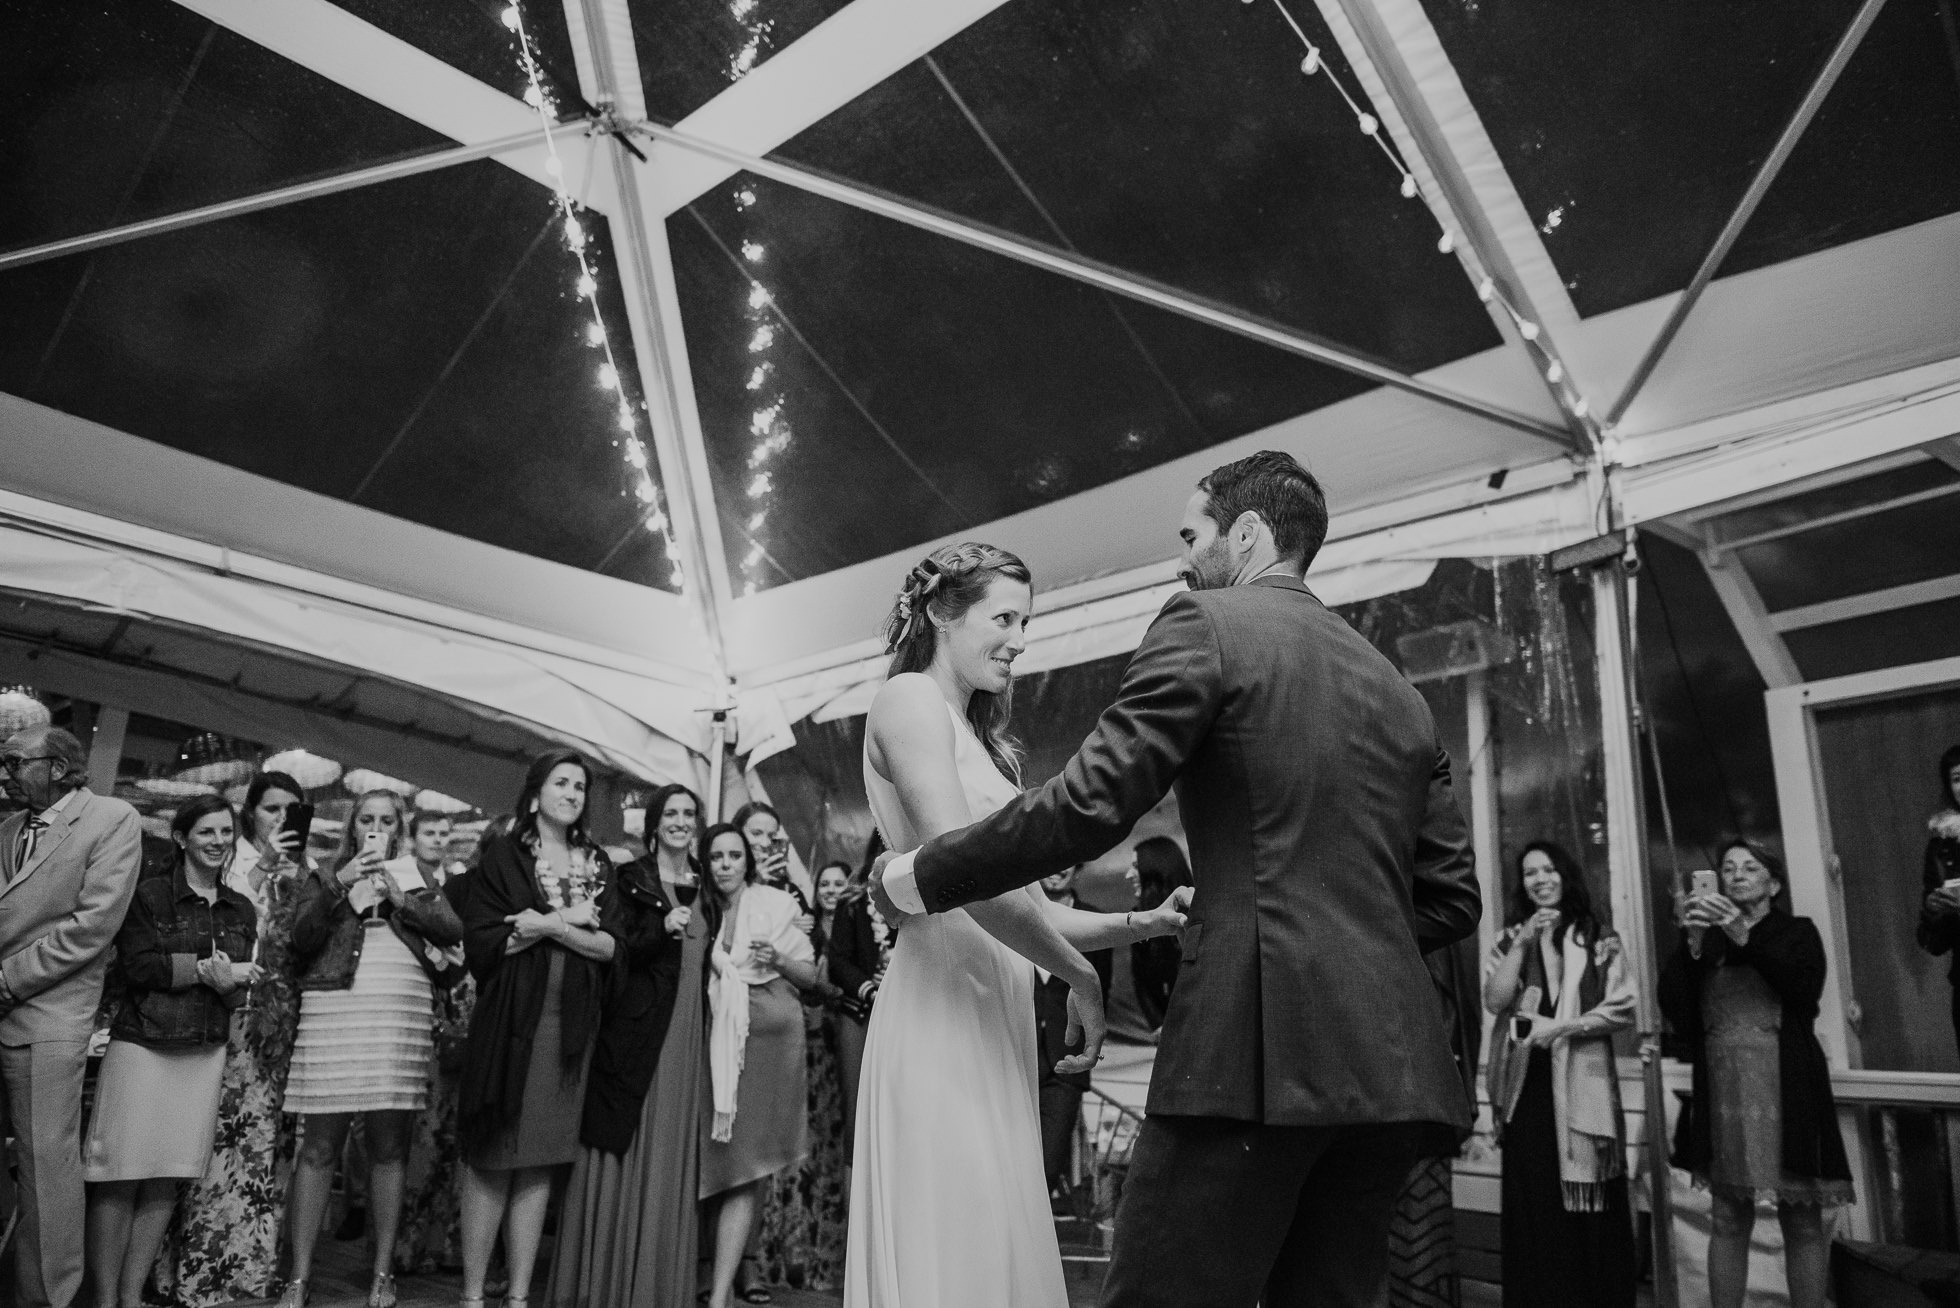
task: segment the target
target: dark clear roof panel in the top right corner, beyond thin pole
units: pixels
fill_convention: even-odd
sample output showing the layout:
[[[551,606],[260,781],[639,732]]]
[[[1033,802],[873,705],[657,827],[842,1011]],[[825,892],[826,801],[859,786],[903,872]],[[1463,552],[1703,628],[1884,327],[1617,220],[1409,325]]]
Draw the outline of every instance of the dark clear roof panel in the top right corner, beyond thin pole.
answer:
[[[1803,129],[1719,275],[1956,212],[1960,31],[1954,10],[1950,0],[1891,0]]]

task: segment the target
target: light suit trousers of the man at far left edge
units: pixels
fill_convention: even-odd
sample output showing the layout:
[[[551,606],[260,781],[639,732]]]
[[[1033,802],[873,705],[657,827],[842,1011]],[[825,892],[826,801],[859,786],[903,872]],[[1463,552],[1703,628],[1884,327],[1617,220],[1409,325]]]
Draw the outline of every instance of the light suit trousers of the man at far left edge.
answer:
[[[20,1308],[69,1308],[82,1292],[82,1069],[88,1041],[0,1045],[8,1133],[20,1153],[14,1286]]]

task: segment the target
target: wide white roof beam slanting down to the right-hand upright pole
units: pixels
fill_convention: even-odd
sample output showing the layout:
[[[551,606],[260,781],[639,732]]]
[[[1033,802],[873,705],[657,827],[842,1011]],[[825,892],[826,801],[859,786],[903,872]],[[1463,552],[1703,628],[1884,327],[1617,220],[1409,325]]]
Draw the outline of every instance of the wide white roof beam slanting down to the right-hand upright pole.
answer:
[[[1533,357],[1531,369],[1566,418],[1570,449],[1590,455],[1597,443],[1597,424],[1590,416],[1574,416],[1562,384],[1546,380],[1550,363],[1566,371],[1558,335],[1560,331],[1570,335],[1578,327],[1578,314],[1421,2],[1317,0],[1317,4],[1417,184],[1433,202],[1441,202],[1443,212],[1462,233],[1468,247],[1458,255],[1464,273],[1478,278],[1482,271],[1511,308],[1539,327],[1539,339],[1525,341],[1517,335],[1509,314],[1492,304],[1492,320],[1503,337],[1515,349],[1543,355]],[[1423,75],[1417,75],[1417,67]],[[1484,163],[1482,184],[1472,184],[1458,149]],[[1494,210],[1503,214],[1501,224],[1494,220]],[[1527,278],[1521,269],[1529,269],[1531,277]]]

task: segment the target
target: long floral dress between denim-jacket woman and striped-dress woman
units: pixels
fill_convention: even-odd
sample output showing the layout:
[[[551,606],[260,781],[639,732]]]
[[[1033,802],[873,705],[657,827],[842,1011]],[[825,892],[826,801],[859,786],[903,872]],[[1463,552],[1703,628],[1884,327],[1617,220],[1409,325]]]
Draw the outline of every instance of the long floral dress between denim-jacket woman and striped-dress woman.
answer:
[[[280,1114],[280,1104],[300,1024],[292,967],[298,879],[288,869],[253,886],[257,851],[247,859],[247,849],[241,845],[227,880],[259,910],[265,981],[253,986],[249,1004],[231,1014],[212,1163],[184,1190],[157,1251],[157,1288],[184,1308],[267,1298],[278,1288],[278,1239],[294,1155],[294,1120]]]

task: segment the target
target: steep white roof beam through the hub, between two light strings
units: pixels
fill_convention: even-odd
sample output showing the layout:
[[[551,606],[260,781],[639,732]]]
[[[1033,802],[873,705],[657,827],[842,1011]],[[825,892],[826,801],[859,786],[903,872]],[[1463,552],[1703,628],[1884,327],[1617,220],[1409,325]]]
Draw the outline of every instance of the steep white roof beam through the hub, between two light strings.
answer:
[[[625,0],[564,0],[566,22],[584,39],[580,76],[590,76],[586,98],[604,108],[641,104],[639,55],[631,41]],[[688,365],[686,326],[680,320],[680,290],[674,257],[666,241],[666,216],[649,204],[649,184],[661,169],[635,169],[633,157],[612,149],[613,184],[619,202],[613,247],[633,324],[633,355],[647,390],[647,418],[653,428],[655,457],[666,486],[668,512],[686,541],[686,594],[694,600],[715,667],[727,679],[729,651],[721,614],[731,600],[729,561],[715,510],[708,443],[702,435],[694,373]]]

